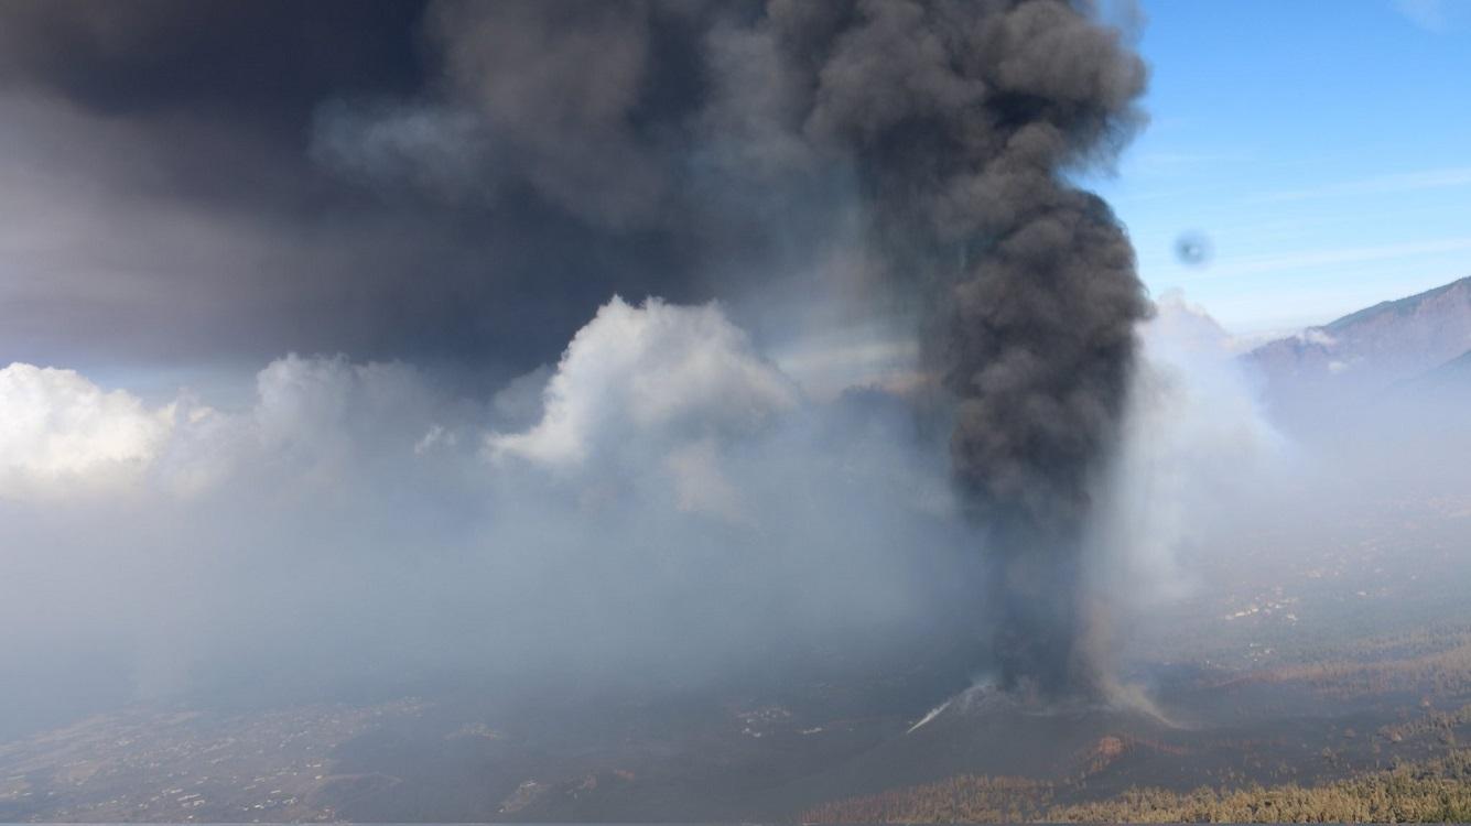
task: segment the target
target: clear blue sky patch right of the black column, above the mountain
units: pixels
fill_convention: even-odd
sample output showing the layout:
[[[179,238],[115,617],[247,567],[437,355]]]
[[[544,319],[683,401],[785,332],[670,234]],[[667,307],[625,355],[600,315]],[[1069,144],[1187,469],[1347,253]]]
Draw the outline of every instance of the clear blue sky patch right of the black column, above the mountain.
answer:
[[[1091,179],[1239,334],[1471,275],[1471,0],[1143,3],[1149,128]],[[1206,266],[1175,259],[1206,235]]]

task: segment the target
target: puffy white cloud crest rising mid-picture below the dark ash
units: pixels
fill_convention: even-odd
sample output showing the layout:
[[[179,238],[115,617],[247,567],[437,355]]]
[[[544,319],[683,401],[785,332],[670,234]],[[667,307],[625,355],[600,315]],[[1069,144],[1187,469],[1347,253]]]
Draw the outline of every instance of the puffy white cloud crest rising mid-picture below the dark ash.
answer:
[[[575,467],[627,438],[749,434],[797,406],[796,384],[716,304],[605,304],[568,345],[541,420],[493,434],[494,457]],[[680,437],[684,437],[680,439]]]

